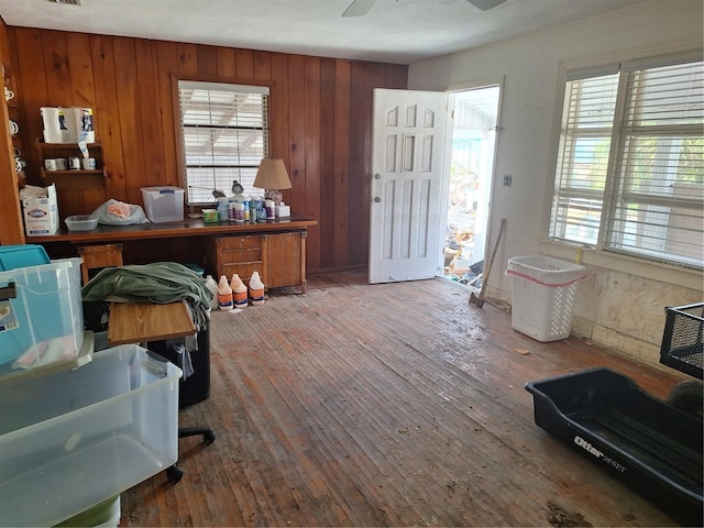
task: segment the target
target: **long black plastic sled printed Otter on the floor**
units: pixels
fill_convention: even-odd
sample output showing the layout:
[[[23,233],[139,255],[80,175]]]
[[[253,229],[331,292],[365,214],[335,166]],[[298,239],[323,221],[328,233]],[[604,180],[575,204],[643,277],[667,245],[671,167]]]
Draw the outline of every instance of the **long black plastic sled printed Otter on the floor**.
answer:
[[[600,367],[526,384],[536,424],[659,505],[703,526],[702,419]]]

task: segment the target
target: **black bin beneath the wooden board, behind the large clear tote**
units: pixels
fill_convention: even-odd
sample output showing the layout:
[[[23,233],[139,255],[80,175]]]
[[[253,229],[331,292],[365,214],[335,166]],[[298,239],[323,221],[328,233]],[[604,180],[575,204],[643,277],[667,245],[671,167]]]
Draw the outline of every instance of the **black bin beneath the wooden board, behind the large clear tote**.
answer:
[[[197,404],[210,396],[210,324],[196,336],[198,350],[190,354],[193,374],[180,378],[178,385],[178,406],[180,408]],[[151,341],[147,348],[184,370],[183,356],[173,345],[173,341]]]

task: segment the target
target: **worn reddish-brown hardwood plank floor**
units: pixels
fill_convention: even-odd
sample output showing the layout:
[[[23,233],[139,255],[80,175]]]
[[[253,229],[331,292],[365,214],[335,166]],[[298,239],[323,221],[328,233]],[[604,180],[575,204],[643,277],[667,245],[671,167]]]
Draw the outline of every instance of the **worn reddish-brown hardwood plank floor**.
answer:
[[[212,315],[211,396],[179,425],[217,439],[180,440],[184,479],[123,493],[121,526],[675,524],[539,429],[524,384],[604,365],[664,397],[685,376],[539,343],[441,280],[350,272],[284,294]]]

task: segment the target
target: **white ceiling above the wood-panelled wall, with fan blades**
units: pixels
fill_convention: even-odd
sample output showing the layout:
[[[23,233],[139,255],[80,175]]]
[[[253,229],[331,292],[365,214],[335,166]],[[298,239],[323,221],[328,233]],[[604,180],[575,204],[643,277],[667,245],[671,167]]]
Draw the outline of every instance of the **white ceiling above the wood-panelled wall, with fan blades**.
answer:
[[[53,0],[52,0],[53,1]],[[644,0],[0,0],[8,25],[411,64]]]

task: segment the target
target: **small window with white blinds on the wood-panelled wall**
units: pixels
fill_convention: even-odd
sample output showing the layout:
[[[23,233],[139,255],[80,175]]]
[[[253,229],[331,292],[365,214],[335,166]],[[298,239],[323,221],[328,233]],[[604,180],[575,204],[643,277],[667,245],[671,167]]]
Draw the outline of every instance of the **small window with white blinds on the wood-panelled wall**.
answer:
[[[270,155],[268,88],[178,81],[183,167],[189,205],[213,204],[212,191],[261,194],[252,184]]]

